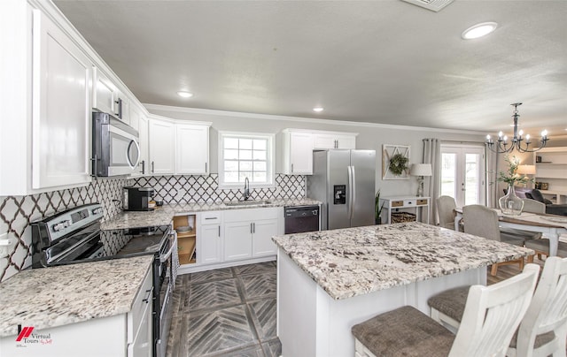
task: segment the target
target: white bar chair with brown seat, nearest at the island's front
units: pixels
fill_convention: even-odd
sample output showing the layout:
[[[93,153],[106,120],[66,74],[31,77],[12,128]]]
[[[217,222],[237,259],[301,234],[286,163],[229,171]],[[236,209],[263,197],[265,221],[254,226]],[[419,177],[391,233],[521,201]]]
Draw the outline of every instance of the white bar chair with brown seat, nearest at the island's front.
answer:
[[[470,287],[454,335],[428,315],[405,306],[353,326],[356,356],[505,356],[530,305],[540,267],[500,283]]]

